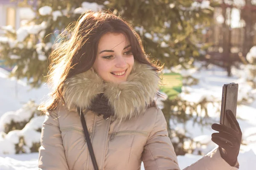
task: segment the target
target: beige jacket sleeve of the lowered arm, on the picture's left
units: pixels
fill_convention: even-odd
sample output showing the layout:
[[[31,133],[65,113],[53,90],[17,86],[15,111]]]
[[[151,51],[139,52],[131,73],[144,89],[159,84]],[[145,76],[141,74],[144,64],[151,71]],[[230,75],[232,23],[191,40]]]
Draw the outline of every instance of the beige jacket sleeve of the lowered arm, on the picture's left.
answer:
[[[56,111],[47,112],[39,149],[39,170],[69,170]]]

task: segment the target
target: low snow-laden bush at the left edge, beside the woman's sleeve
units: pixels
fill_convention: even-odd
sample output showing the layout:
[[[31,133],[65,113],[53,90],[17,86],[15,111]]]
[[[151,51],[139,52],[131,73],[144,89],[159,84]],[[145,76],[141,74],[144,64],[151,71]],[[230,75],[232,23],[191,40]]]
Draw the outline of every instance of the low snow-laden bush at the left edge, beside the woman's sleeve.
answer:
[[[0,154],[38,152],[45,116],[39,116],[37,107],[28,102],[0,117]]]

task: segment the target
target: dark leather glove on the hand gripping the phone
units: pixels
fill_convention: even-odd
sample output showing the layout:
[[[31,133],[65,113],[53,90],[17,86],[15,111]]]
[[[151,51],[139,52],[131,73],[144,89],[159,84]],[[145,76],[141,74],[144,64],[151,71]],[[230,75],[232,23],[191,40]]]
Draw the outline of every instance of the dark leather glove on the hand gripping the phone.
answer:
[[[226,113],[231,128],[216,123],[212,124],[212,129],[219,132],[212,133],[212,142],[219,145],[221,157],[233,167],[239,154],[242,132],[232,111],[227,110]]]

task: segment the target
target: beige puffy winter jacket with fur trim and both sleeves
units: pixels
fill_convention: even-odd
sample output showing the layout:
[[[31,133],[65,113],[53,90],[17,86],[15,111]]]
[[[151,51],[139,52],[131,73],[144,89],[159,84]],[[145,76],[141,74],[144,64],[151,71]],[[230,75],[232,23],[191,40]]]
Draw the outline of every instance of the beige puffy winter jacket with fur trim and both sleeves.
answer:
[[[79,114],[83,108],[99,170],[180,170],[161,109],[148,108],[158,77],[146,65],[134,65],[128,81],[103,83],[93,71],[76,75],[64,90],[66,106],[47,112],[39,151],[40,170],[93,170]],[[96,94],[108,97],[115,116],[87,110]],[[237,170],[215,149],[186,170]]]

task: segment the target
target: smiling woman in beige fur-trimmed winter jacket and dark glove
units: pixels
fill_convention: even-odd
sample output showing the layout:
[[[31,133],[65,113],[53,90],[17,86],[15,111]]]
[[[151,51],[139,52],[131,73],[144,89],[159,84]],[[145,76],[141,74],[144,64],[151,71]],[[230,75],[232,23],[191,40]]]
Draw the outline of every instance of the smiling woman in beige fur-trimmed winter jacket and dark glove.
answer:
[[[163,67],[149,61],[128,23],[87,12],[51,57],[53,100],[40,107],[47,113],[41,170],[140,170],[141,161],[145,170],[180,170],[154,102]],[[215,148],[186,170],[237,169],[241,130],[234,116],[230,122],[238,133],[212,126],[220,131],[212,140],[225,152]]]

